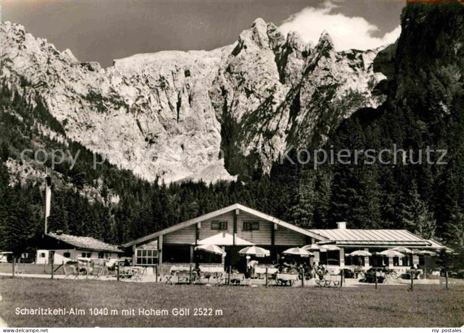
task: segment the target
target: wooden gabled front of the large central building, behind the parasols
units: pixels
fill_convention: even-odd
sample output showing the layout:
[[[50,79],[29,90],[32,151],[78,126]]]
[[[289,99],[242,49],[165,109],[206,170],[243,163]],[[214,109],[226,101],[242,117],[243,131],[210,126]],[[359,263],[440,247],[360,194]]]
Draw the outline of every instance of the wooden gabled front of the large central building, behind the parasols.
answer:
[[[245,247],[238,245],[236,239],[243,239],[269,249],[271,258],[267,258],[267,260],[270,261],[276,261],[277,254],[283,249],[327,240],[327,238],[309,230],[291,225],[249,207],[234,204],[135,239],[125,246],[132,253],[133,262],[136,264],[148,264],[148,261],[142,262],[141,259],[137,258],[139,253],[143,254],[137,249],[150,242],[153,243],[155,240],[157,241],[157,258],[152,258],[149,261],[152,264],[189,263],[193,261],[217,263],[217,260],[220,262],[220,257],[214,257],[214,255],[197,257],[193,248],[200,240],[218,235],[221,232],[233,235],[232,244],[223,246],[229,254],[226,256],[227,261],[237,259],[238,251]]]

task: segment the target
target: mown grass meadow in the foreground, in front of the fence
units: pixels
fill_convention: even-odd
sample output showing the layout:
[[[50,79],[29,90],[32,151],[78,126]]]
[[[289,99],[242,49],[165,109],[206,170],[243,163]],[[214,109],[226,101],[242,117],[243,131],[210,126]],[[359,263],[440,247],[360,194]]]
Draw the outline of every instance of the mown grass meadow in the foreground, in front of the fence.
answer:
[[[1,278],[0,315],[10,327],[460,327],[464,286],[342,289],[165,285]],[[16,308],[84,309],[85,315],[21,315]],[[108,309],[90,315],[90,308]],[[135,314],[122,314],[123,309]],[[166,309],[139,315],[140,308]],[[190,308],[175,316],[174,308]],[[212,315],[194,315],[211,308]],[[111,313],[111,310],[117,310]],[[216,310],[222,310],[216,312]],[[199,313],[197,313],[199,314]],[[206,314],[210,314],[207,312]]]

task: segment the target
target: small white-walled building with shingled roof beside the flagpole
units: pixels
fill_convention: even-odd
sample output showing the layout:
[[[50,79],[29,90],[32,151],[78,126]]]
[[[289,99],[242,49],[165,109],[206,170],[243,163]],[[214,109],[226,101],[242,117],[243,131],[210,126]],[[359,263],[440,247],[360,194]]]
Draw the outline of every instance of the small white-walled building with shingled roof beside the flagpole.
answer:
[[[37,250],[36,264],[50,264],[52,251],[55,264],[64,264],[77,257],[116,260],[123,251],[116,245],[105,243],[92,237],[73,236],[64,233],[43,235],[41,249]]]

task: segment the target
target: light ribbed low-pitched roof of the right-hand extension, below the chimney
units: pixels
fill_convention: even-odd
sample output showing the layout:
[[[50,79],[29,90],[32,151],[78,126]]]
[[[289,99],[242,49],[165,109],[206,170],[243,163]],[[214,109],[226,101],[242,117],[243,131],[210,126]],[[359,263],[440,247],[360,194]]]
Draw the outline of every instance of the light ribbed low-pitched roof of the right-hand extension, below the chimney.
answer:
[[[415,245],[431,246],[430,241],[407,230],[392,229],[309,229],[340,245]],[[327,241],[326,241],[327,243]]]

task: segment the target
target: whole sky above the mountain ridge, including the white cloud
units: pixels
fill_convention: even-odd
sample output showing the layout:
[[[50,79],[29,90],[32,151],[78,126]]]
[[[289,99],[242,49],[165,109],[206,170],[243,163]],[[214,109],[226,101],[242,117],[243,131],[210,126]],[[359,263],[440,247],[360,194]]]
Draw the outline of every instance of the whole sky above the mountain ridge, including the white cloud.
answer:
[[[22,24],[82,62],[161,50],[212,50],[234,43],[258,17],[337,50],[393,43],[403,0],[4,0],[1,20]]]

